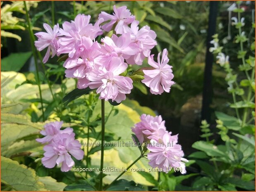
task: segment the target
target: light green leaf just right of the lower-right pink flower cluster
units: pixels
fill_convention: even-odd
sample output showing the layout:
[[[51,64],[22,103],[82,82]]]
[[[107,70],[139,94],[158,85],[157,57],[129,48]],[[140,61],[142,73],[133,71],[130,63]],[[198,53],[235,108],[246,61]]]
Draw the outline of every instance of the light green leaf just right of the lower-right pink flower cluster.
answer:
[[[205,152],[208,156],[220,156],[220,157],[226,156],[226,154],[220,151],[216,145],[213,145],[205,141],[194,142],[192,147]]]

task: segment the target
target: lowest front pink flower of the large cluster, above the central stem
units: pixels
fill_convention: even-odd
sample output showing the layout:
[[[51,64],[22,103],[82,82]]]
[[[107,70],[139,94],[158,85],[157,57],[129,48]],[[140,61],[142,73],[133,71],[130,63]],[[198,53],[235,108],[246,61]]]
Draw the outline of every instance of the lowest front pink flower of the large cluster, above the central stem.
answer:
[[[132,79],[129,77],[119,76],[127,69],[122,57],[112,57],[106,65],[96,65],[88,74],[88,83],[91,89],[96,89],[100,93],[100,99],[112,100],[120,103],[125,100],[125,94],[131,92]]]

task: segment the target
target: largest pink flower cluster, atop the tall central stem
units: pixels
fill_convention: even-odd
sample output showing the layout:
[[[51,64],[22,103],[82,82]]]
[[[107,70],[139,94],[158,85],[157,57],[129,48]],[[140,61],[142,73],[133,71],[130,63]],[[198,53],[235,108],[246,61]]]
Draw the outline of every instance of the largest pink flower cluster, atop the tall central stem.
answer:
[[[163,50],[161,60],[158,54],[158,62],[150,55],[157,45],[156,33],[148,26],[139,28],[139,21],[126,6],[114,5],[113,9],[113,14],[101,12],[95,24],[90,23],[90,15],[84,14],[78,14],[74,21],[64,22],[62,28],[57,24],[52,29],[44,24],[47,33],[35,34],[38,51],[48,47],[43,62],[48,61],[50,52],[52,57],[67,54],[63,64],[65,76],[77,78],[77,88],[96,89],[100,99],[120,103],[133,88],[131,74],[124,75],[128,65],[142,65],[148,57],[151,68],[142,70],[142,83],[153,94],[169,92],[174,82],[171,66],[167,64],[167,50]],[[105,33],[107,35],[97,42],[96,38]]]

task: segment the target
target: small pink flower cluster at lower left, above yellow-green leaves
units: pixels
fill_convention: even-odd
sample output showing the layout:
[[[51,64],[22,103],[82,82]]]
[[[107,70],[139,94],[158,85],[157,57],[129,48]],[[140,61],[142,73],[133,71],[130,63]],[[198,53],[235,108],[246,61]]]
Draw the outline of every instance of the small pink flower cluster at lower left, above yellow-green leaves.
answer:
[[[61,165],[61,171],[69,171],[74,166],[74,158],[81,160],[84,157],[84,151],[81,150],[81,144],[75,140],[75,134],[72,128],[60,130],[63,121],[47,123],[40,133],[45,137],[36,139],[42,144],[48,143],[43,147],[45,153],[42,158],[42,164],[47,168],[53,168],[56,164]]]

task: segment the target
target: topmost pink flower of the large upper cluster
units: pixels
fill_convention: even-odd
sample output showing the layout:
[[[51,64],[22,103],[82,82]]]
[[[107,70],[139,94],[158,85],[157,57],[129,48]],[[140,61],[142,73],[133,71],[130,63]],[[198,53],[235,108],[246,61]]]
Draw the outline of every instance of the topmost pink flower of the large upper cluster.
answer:
[[[117,22],[117,25],[115,26],[115,32],[117,34],[122,34],[125,31],[128,30],[128,25],[134,21],[135,17],[134,15],[131,15],[131,12],[129,9],[127,9],[126,6],[122,6],[119,8],[116,8],[115,5],[113,6],[114,13],[113,15],[110,15],[106,12],[101,12],[99,14],[99,19],[103,19],[104,21],[109,21],[109,23],[104,24],[102,28],[105,31],[110,31],[114,24]]]

